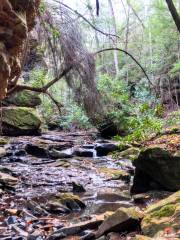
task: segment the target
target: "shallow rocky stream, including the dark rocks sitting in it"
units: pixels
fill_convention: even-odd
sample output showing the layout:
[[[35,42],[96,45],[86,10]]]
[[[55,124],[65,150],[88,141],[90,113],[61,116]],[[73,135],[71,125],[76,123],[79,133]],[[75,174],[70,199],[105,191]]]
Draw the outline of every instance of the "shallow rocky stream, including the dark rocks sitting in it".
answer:
[[[114,143],[96,139],[91,132],[10,138],[1,168],[18,181],[3,185],[0,239],[49,239],[62,227],[133,206],[132,163],[105,156],[108,144],[113,147]],[[62,200],[67,197],[64,193],[72,199]],[[86,239],[84,235],[71,238]]]

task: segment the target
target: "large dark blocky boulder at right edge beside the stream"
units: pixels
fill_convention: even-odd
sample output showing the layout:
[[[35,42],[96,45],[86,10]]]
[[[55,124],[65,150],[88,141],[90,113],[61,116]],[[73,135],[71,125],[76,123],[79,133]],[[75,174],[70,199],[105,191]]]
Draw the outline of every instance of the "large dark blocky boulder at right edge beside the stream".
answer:
[[[136,167],[132,193],[149,190],[179,190],[180,156],[158,147],[148,147],[134,161]]]

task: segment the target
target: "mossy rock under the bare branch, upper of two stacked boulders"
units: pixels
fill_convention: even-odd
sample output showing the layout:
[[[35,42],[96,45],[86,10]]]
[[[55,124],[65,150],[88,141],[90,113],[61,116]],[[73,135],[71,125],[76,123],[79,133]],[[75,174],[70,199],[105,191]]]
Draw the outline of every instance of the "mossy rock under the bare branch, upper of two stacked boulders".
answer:
[[[36,107],[41,104],[41,98],[37,93],[24,90],[14,93],[5,102],[20,107]]]

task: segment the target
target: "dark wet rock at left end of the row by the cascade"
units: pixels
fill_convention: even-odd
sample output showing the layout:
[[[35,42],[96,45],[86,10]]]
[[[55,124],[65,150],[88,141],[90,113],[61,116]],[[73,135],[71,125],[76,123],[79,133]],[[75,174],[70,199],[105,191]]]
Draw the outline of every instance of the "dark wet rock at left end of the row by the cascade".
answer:
[[[28,154],[38,157],[38,158],[47,158],[48,157],[47,148],[43,145],[34,145],[31,143],[28,143],[25,146],[25,150]]]

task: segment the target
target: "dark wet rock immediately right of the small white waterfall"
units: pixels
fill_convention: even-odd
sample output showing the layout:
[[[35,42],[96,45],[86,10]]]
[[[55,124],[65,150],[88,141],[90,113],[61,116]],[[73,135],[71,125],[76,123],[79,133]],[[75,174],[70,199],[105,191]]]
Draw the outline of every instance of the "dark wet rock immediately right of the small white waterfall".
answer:
[[[102,144],[98,143],[95,146],[95,150],[97,152],[98,157],[107,156],[109,153],[117,151],[118,145],[115,143],[102,143]]]

